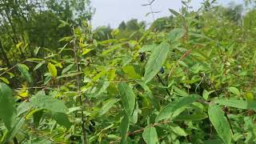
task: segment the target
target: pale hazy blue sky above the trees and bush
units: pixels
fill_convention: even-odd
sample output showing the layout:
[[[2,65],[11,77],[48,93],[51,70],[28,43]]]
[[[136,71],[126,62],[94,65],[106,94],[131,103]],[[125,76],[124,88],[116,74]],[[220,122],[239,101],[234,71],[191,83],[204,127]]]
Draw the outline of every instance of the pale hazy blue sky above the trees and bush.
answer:
[[[140,21],[152,22],[152,17],[146,14],[150,7],[142,6],[148,0],[91,0],[92,6],[96,8],[93,18],[94,28],[97,26],[110,25],[116,28],[120,22],[130,18],[138,18]],[[227,5],[230,2],[242,3],[242,0],[217,0],[219,4]],[[202,0],[192,0],[191,6],[198,9]],[[153,10],[161,11],[155,14],[156,18],[170,15],[169,8],[179,10],[182,6],[181,0],[155,0]]]

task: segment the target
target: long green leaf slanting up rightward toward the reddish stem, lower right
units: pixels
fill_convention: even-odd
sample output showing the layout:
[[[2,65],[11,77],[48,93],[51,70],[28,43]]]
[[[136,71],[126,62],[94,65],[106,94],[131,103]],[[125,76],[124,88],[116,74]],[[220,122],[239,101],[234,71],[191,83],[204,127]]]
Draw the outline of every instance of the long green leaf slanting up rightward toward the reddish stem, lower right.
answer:
[[[200,97],[198,95],[190,95],[187,97],[179,98],[174,102],[170,102],[165,108],[163,108],[158,114],[155,122],[161,121],[162,119],[171,118],[174,112],[183,106],[187,106],[194,101],[198,100]]]

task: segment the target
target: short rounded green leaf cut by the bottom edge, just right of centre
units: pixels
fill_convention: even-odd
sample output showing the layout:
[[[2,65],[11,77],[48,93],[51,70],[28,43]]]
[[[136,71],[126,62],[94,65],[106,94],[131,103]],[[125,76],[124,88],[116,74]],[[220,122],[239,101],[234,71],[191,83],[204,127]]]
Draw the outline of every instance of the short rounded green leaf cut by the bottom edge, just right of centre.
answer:
[[[154,126],[146,127],[142,133],[142,137],[147,144],[158,143],[158,133]]]

